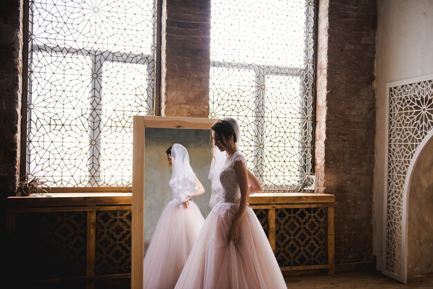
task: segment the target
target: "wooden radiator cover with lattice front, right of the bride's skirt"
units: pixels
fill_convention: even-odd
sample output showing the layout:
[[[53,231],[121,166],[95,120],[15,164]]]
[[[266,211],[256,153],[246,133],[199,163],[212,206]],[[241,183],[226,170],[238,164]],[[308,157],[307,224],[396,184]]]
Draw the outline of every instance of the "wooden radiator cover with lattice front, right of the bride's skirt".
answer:
[[[268,211],[267,236],[282,271],[327,269],[334,274],[333,195],[252,196],[256,214]]]

